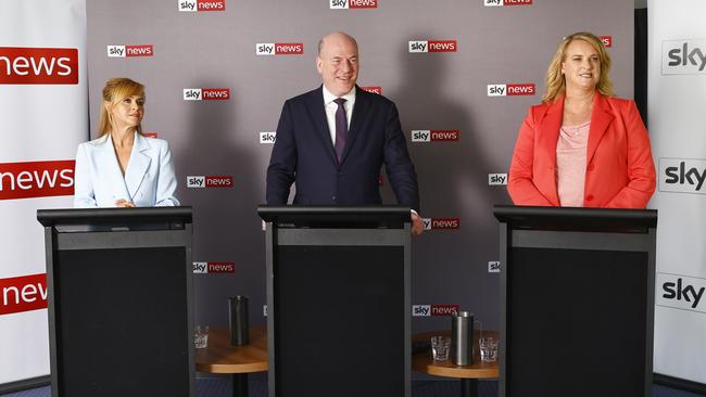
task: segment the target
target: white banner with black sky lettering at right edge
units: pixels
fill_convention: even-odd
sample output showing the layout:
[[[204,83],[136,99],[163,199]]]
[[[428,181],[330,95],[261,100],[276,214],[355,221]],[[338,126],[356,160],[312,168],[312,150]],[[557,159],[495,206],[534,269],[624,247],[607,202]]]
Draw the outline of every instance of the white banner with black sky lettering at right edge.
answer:
[[[648,2],[648,113],[659,210],[655,372],[706,384],[706,2]]]

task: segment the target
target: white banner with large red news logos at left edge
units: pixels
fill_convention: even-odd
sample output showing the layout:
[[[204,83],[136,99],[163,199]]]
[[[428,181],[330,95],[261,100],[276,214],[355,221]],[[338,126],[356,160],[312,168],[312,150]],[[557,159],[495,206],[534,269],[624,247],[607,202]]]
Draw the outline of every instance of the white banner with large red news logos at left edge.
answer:
[[[88,133],[85,0],[0,2],[0,386],[49,373],[38,208],[70,207]]]

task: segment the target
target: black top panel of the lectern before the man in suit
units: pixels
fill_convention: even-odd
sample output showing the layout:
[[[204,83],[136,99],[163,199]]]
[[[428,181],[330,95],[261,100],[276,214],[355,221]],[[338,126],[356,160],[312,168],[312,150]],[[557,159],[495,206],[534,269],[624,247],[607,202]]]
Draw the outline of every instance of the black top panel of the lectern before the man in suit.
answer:
[[[279,225],[307,227],[393,227],[402,228],[411,222],[409,207],[401,205],[373,206],[304,206],[304,205],[261,205],[260,217]]]

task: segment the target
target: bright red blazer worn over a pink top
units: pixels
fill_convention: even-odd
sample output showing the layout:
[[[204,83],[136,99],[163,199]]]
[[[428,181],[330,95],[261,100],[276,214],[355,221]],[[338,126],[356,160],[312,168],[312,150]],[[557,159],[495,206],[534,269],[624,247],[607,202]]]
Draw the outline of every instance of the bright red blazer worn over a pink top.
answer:
[[[559,206],[556,142],[564,97],[532,106],[519,129],[507,191],[516,205]],[[635,103],[596,92],[591,114],[583,205],[644,208],[655,191],[650,138]]]

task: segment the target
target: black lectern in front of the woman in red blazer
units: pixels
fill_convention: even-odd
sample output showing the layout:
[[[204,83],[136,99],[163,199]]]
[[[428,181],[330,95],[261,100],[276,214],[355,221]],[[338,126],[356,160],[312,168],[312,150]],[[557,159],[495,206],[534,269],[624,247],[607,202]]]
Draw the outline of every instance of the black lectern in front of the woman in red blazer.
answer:
[[[652,396],[656,210],[496,206],[501,397]]]

